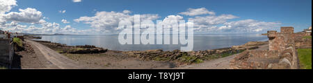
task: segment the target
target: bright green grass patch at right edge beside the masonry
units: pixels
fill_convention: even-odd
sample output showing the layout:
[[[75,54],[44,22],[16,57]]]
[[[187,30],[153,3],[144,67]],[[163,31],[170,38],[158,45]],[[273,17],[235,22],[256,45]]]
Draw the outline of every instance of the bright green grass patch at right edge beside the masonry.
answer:
[[[298,57],[302,69],[312,69],[312,48],[299,48]]]

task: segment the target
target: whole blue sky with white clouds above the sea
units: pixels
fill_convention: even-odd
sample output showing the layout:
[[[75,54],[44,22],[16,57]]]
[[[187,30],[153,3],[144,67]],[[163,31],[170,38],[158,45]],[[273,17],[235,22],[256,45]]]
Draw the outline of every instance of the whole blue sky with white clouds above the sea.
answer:
[[[266,33],[312,26],[312,0],[0,0],[0,30],[118,34],[122,20],[193,20],[195,34]],[[145,30],[145,28],[142,28]]]

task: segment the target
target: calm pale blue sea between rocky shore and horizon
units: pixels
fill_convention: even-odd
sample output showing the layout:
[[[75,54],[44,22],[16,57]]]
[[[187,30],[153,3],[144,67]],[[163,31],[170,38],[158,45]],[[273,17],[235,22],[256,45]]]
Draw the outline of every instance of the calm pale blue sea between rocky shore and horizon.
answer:
[[[135,35],[138,36],[138,35]],[[118,42],[118,35],[42,35],[44,41],[77,45],[94,45],[110,50],[176,50],[185,45],[122,45]],[[211,50],[227,48],[234,45],[246,44],[252,41],[267,41],[268,38],[257,34],[231,34],[231,35],[194,35],[193,50]]]

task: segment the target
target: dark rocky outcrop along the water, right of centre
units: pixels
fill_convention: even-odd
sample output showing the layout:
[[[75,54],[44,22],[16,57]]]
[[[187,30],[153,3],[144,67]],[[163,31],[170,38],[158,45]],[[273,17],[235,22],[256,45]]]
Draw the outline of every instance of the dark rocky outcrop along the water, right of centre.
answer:
[[[260,45],[260,44],[255,44]],[[163,50],[141,50],[141,51],[124,51],[125,55],[138,57],[143,60],[156,60],[173,62],[176,66],[185,66],[194,63],[201,63],[204,60],[227,57],[236,53],[241,53],[245,49],[220,48],[215,50],[199,50],[191,52],[181,52],[180,50],[163,51]]]

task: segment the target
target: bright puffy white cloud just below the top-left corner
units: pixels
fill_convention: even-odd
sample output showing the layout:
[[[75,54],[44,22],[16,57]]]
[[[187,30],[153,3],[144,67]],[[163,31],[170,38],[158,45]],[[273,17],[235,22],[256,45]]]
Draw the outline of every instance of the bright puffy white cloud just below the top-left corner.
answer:
[[[19,12],[9,12],[4,15],[7,21],[17,21],[24,23],[37,23],[42,19],[42,12],[34,8],[19,9]]]

